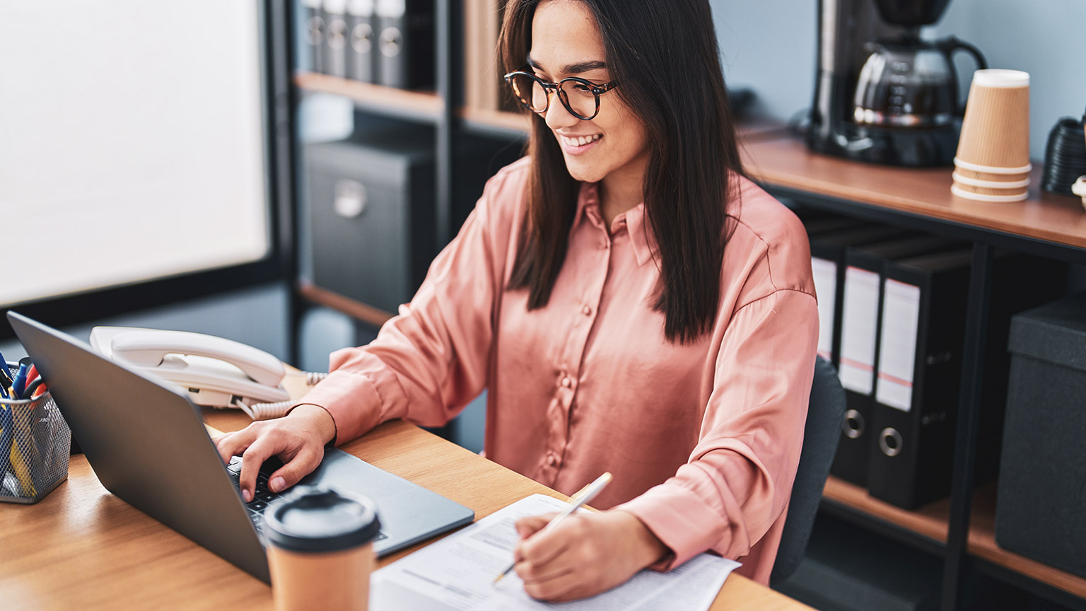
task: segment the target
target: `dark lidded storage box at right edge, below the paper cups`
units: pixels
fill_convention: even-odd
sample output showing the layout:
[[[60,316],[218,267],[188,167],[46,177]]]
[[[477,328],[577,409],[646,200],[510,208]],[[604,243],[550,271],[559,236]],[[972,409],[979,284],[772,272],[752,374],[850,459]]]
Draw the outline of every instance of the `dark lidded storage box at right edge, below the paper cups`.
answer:
[[[1013,317],[996,543],[1086,576],[1086,294]]]

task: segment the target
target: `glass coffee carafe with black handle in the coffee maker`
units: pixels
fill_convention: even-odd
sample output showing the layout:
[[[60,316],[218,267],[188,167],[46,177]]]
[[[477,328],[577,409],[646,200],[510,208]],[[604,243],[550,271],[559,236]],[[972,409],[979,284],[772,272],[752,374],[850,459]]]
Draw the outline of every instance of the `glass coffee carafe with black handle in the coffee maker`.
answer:
[[[854,119],[881,127],[942,127],[961,116],[952,55],[965,51],[987,67],[975,47],[955,37],[871,42],[856,84]]]

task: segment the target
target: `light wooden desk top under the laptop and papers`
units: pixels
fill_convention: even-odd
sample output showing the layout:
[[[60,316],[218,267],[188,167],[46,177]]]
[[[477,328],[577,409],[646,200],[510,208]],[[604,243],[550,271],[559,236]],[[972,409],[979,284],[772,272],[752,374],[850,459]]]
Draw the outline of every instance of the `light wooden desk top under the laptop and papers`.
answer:
[[[205,412],[222,431],[240,412]],[[343,449],[470,507],[483,518],[528,495],[563,495],[404,422],[387,423]],[[408,550],[382,560],[387,564]],[[0,608],[272,609],[272,590],[108,492],[83,456],[68,481],[34,506],[0,503]],[[715,611],[808,609],[740,575]]]

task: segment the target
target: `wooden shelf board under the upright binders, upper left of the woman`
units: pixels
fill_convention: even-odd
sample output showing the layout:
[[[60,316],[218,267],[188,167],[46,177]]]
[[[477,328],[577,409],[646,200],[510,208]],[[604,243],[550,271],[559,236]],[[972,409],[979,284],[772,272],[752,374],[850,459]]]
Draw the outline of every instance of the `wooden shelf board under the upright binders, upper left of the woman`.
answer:
[[[294,75],[294,84],[306,91],[351,98],[358,107],[380,111],[390,116],[437,122],[443,107],[441,98],[433,91],[396,89],[327,74],[298,73]]]

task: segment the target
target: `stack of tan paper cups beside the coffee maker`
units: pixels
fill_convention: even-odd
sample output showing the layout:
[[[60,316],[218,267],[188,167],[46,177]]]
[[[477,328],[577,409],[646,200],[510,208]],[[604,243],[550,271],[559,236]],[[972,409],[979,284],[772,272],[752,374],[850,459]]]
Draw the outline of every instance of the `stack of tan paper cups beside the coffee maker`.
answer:
[[[1021,201],[1030,186],[1030,74],[1016,70],[973,73],[954,160],[958,197]]]

